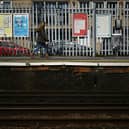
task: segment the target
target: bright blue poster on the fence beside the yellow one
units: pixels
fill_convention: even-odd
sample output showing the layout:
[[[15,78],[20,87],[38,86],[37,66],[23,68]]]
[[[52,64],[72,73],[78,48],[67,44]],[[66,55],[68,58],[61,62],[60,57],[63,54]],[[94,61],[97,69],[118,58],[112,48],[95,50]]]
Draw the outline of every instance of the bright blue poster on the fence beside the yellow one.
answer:
[[[14,37],[29,37],[29,15],[14,14],[13,16]]]

